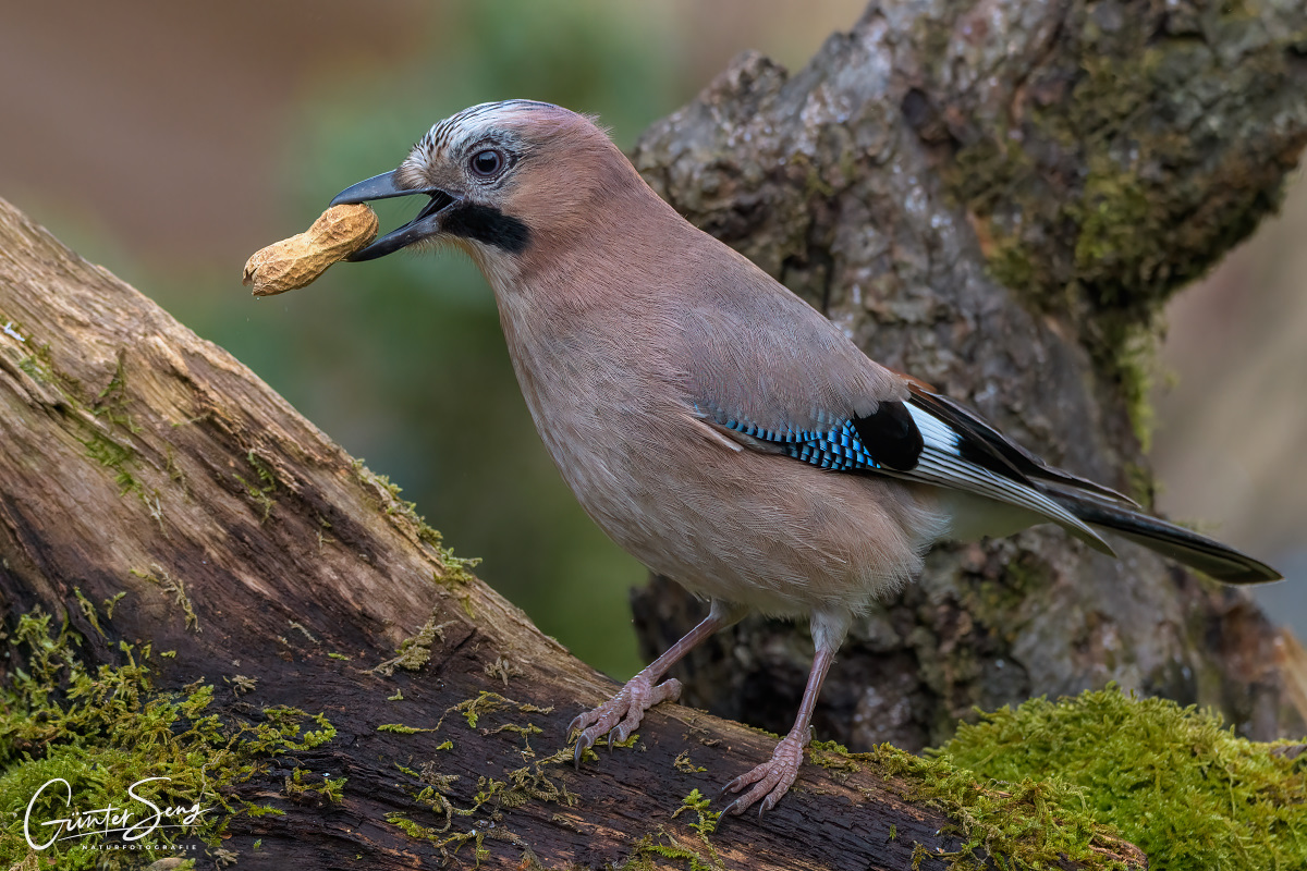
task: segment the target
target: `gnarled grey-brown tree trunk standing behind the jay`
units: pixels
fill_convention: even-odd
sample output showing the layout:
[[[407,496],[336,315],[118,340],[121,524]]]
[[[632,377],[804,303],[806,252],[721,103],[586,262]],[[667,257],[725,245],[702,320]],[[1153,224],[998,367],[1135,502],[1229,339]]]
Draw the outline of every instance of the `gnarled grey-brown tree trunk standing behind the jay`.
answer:
[[[1158,311],[1276,208],[1304,94],[1302,4],[873,3],[795,76],[740,57],[634,161],[873,359],[1148,504]],[[817,734],[915,750],[975,706],[1108,680],[1300,734],[1252,599],[1112,543],[1120,562],[1051,526],[935,550],[855,626]],[[661,578],[634,606],[650,657],[703,614]],[[673,674],[691,704],[784,731],[810,656],[753,619]]]

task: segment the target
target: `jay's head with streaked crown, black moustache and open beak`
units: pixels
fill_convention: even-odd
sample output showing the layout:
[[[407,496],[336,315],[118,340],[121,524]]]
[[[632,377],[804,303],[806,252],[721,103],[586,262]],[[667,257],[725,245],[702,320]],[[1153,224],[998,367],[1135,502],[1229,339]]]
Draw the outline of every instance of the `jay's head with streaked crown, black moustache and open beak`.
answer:
[[[512,269],[533,249],[584,238],[596,213],[633,182],[644,187],[589,118],[515,99],[473,106],[439,121],[399,168],[341,191],[332,205],[429,197],[413,221],[350,260],[443,242],[498,272]]]

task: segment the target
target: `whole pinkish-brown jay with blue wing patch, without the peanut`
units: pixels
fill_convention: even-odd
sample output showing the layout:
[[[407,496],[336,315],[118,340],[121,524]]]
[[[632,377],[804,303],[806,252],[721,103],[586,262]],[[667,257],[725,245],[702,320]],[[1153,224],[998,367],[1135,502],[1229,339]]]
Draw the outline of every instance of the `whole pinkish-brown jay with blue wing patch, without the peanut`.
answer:
[[[694,645],[750,611],[812,623],[812,673],[771,759],[728,808],[786,794],[822,679],[855,616],[941,538],[1095,528],[1212,577],[1280,575],[1055,469],[928,385],[868,359],[831,321],[654,193],[592,119],[531,101],[435,124],[391,172],[332,204],[425,196],[350,260],[463,248],[494,289],[540,437],[582,507],[650,569],[711,602],[699,626],[576,717],[576,760],[644,710]],[[744,791],[748,787],[748,791]]]

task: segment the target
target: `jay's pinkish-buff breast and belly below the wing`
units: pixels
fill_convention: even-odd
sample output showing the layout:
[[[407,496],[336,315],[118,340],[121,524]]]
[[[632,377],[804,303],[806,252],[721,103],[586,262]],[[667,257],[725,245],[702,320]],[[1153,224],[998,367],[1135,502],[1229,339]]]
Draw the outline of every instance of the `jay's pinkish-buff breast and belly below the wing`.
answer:
[[[640,330],[532,321],[501,302],[536,428],[596,524],[690,590],[775,615],[865,609],[912,577],[946,524],[912,484],[732,449],[693,417]]]

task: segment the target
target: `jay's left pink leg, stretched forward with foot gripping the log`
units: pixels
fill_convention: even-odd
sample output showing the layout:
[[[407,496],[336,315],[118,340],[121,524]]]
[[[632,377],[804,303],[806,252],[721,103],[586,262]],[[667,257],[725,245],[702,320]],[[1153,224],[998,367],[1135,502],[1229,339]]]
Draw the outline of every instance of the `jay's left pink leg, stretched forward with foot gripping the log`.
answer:
[[[741,611],[742,612],[742,611]],[[586,750],[595,746],[600,735],[608,735],[609,747],[613,746],[613,736],[618,742],[626,740],[640,725],[644,712],[660,701],[670,699],[676,701],[681,697],[681,682],[676,678],[659,683],[667,670],[674,666],[681,658],[694,649],[697,644],[724,627],[736,623],[741,612],[731,606],[714,602],[712,611],[699,626],[690,629],[684,639],[673,644],[667,653],[644,667],[638,675],[626,682],[616,696],[593,710],[571,721],[567,734],[579,731],[576,736],[576,764]]]

